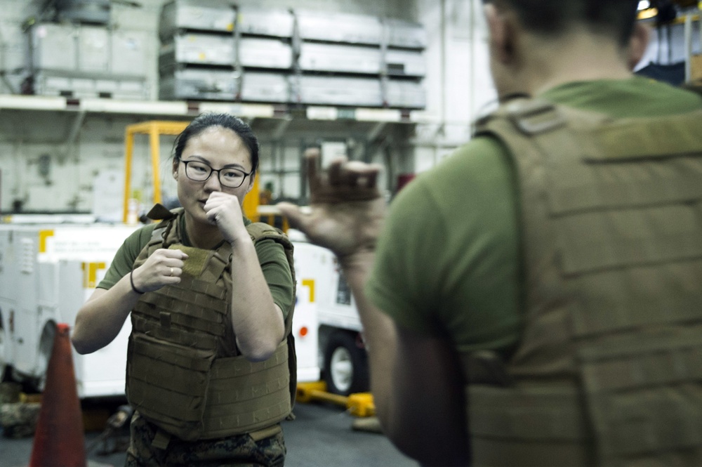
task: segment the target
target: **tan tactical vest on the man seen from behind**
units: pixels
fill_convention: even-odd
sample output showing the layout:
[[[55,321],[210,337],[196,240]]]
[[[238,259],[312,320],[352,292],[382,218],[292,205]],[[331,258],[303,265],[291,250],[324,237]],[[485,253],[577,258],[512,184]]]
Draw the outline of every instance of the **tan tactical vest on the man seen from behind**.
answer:
[[[702,110],[538,100],[477,124],[512,154],[524,329],[464,356],[476,466],[702,465]]]

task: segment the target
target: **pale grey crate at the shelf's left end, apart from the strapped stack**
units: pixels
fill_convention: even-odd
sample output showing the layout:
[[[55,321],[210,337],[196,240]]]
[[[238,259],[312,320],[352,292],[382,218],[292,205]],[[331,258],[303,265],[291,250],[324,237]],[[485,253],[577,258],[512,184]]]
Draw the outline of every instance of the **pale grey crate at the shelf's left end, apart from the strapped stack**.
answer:
[[[27,29],[26,93],[149,98],[147,34],[103,25],[39,22]]]

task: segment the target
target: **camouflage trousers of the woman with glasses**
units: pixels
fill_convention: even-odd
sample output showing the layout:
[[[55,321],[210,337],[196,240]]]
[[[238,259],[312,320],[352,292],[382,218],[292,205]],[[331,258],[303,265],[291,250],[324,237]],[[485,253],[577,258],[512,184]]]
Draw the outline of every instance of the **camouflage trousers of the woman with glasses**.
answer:
[[[282,467],[285,462],[283,433],[255,441],[250,435],[215,440],[184,441],[172,437],[166,449],[152,446],[158,428],[135,412],[124,465],[133,466],[237,466]]]

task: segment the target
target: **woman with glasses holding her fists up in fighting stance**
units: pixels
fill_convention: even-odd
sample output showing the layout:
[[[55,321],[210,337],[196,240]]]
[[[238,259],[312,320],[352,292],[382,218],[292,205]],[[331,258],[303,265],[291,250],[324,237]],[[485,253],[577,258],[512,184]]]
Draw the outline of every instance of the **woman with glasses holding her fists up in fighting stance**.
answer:
[[[241,205],[258,140],[229,114],[202,114],[176,138],[183,206],[154,206],[78,312],[73,345],[107,346],[131,315],[126,393],[135,409],[126,465],[282,466],[291,413],[291,244]]]

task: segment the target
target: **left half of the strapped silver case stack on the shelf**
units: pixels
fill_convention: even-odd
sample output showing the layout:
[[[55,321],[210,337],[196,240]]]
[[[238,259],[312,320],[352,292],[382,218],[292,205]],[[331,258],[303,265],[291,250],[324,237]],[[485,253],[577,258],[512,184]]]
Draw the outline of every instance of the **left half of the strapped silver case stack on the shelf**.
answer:
[[[289,14],[175,0],[161,12],[161,99],[287,103]]]

